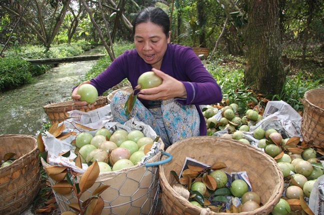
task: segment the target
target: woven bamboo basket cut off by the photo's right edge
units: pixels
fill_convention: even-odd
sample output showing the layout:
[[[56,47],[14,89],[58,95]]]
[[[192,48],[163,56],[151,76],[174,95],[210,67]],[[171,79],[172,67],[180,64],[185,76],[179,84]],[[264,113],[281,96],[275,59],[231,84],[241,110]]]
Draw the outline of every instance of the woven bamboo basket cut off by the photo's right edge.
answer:
[[[324,88],[305,92],[303,99],[304,113],[301,121],[301,134],[305,141],[324,146]]]

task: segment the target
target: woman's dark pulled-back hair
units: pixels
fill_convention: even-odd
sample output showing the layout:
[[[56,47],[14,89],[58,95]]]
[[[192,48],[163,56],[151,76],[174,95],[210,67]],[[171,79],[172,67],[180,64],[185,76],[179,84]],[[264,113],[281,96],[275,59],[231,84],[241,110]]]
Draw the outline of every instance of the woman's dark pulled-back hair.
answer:
[[[135,27],[137,24],[152,22],[161,26],[166,38],[169,36],[170,20],[167,14],[159,7],[147,7],[140,11],[132,22],[133,35],[135,35]]]

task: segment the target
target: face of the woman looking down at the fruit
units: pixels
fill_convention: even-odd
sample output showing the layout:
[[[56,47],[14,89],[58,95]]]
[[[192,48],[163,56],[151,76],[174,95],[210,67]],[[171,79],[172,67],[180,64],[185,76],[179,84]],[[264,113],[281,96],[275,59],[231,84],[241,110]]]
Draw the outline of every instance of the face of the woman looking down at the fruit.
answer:
[[[153,68],[160,69],[170,34],[166,38],[162,28],[152,22],[135,26],[134,43],[139,56]]]

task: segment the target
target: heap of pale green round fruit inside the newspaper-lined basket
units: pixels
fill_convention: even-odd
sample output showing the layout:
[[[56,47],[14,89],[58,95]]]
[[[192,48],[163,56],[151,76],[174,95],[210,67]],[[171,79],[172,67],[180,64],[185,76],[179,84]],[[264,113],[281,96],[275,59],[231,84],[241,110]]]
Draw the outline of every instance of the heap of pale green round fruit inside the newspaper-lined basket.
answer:
[[[149,150],[153,142],[139,130],[128,133],[118,129],[111,133],[101,128],[94,136],[89,132],[79,133],[72,145],[82,163],[91,165],[97,161],[100,172],[110,172],[137,165],[145,156],[145,147]]]

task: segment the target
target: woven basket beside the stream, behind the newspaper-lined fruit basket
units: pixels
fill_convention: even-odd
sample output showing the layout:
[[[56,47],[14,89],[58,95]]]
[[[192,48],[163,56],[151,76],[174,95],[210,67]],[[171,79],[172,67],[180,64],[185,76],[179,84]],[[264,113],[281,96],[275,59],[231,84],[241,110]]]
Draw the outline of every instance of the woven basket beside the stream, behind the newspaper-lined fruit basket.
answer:
[[[43,106],[44,112],[47,114],[47,117],[51,124],[55,122],[62,122],[69,118],[68,111],[79,110],[83,112],[88,112],[100,107],[103,107],[107,104],[106,96],[99,96],[96,100],[96,105],[92,108],[80,108],[80,106],[74,105],[73,100],[68,100],[64,102],[58,102],[53,104],[48,104]]]

